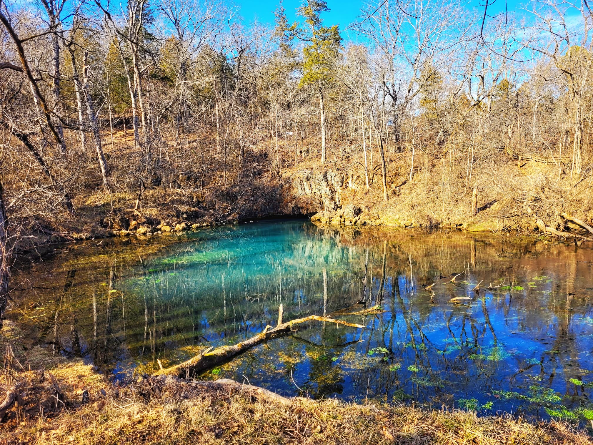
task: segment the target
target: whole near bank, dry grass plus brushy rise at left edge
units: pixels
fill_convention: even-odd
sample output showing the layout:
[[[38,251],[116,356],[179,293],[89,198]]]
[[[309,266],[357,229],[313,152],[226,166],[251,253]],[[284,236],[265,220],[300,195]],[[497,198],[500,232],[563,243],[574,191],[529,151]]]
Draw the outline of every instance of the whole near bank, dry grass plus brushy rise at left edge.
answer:
[[[0,403],[15,384],[21,388],[0,423],[2,444],[593,443],[565,422],[509,415],[337,400],[286,403],[192,380],[151,378],[118,387],[80,360],[39,347],[25,351],[19,338],[18,328],[5,323]]]

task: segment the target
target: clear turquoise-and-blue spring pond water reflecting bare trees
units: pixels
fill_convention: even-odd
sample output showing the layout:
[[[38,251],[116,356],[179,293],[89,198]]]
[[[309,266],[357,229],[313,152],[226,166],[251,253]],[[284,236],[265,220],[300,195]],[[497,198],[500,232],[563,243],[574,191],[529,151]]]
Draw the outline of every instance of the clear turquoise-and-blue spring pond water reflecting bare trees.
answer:
[[[440,278],[453,272],[464,274]],[[59,246],[14,282],[19,307],[8,316],[31,347],[52,344],[113,379],[240,342],[275,326],[282,304],[285,321],[334,313],[365,329],[299,325],[199,377],[285,396],[415,401],[591,428],[591,248],[262,221]],[[498,287],[486,290],[490,283]],[[335,314],[364,309],[359,301],[384,311]]]

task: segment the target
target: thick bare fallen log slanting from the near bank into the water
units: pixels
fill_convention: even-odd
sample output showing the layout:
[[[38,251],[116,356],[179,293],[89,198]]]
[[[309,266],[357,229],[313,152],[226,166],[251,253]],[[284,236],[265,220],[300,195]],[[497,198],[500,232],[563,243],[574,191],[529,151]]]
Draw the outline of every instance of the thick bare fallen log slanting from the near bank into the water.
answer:
[[[212,367],[215,367],[216,365],[225,363],[231,360],[231,358],[236,357],[242,352],[247,351],[247,349],[251,349],[264,341],[286,335],[292,331],[292,326],[294,325],[307,323],[313,320],[317,320],[318,322],[336,323],[337,325],[350,326],[350,328],[364,328],[364,326],[357,325],[356,323],[348,323],[342,320],[334,320],[329,317],[310,315],[308,317],[282,323],[281,325],[276,326],[276,328],[272,328],[272,326],[266,326],[266,329],[264,329],[263,332],[254,335],[244,342],[237,343],[236,345],[222,346],[215,349],[206,349],[206,351],[202,354],[196,355],[196,357],[192,357],[181,364],[158,370],[156,373],[154,373],[154,375],[159,376],[162,374],[167,374],[170,376],[177,376],[182,379],[190,377],[193,374],[206,371]]]

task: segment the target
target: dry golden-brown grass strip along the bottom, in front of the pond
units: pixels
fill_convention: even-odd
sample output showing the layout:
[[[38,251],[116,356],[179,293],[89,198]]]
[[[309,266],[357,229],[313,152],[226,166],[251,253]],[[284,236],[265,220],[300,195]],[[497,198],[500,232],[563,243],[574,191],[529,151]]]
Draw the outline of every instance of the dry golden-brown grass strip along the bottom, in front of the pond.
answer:
[[[464,411],[352,405],[336,400],[283,406],[241,393],[165,387],[145,400],[132,389],[110,391],[53,419],[32,419],[2,431],[5,443],[199,444],[591,444],[560,422],[531,424],[511,416]]]

